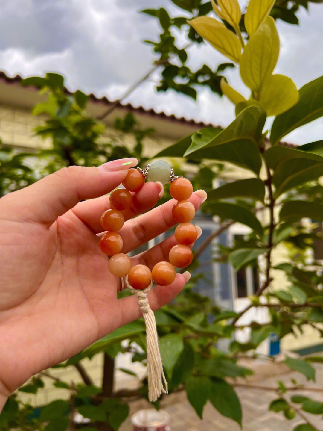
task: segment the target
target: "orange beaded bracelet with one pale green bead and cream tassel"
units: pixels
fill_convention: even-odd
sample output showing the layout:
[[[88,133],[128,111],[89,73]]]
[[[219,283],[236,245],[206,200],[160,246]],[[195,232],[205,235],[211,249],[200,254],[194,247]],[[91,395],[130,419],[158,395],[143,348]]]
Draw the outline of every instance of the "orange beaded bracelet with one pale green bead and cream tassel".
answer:
[[[138,193],[145,184],[146,178],[150,181],[160,181],[162,184],[170,183],[169,192],[177,200],[172,208],[172,215],[176,222],[180,223],[175,229],[175,239],[178,244],[169,251],[169,262],[156,263],[152,271],[145,265],[132,266],[129,256],[120,253],[123,240],[117,233],[125,221],[122,211],[132,205],[130,192]],[[167,382],[158,348],[156,321],[149,306],[147,294],[153,287],[153,280],[160,286],[168,286],[175,280],[175,267],[185,268],[192,262],[193,254],[188,245],[197,239],[197,229],[190,223],[194,218],[195,208],[188,198],[193,193],[193,186],[188,179],[175,176],[173,169],[163,160],[156,160],[148,164],[145,169],[129,169],[122,184],[125,188],[118,188],[110,194],[112,208],[101,216],[101,225],[107,233],[101,237],[99,246],[103,253],[111,256],[108,262],[111,274],[126,277],[126,286],[138,297],[147,329],[149,400],[156,401],[162,392],[167,393]]]

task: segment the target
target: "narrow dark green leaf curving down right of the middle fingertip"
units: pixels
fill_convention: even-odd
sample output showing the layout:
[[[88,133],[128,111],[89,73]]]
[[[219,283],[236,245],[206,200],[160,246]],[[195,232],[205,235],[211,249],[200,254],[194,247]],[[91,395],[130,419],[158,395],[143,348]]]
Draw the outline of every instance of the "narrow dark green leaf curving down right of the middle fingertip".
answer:
[[[213,215],[218,215],[221,219],[234,220],[252,228],[258,235],[263,235],[263,228],[257,217],[243,206],[235,203],[217,202],[205,206]]]

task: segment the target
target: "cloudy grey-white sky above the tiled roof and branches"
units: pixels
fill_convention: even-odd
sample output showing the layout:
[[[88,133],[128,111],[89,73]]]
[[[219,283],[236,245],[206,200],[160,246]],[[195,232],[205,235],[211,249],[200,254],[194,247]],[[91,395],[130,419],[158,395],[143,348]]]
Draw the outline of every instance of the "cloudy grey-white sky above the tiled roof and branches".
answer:
[[[246,1],[239,0],[242,9]],[[151,68],[154,55],[144,39],[157,40],[157,21],[138,13],[165,7],[182,15],[169,0],[0,0],[0,70],[23,77],[58,72],[66,86],[114,100]],[[323,4],[298,12],[300,25],[277,22],[281,49],[275,73],[290,76],[297,87],[323,75]],[[183,46],[185,37],[181,37]],[[189,64],[213,67],[227,62],[212,47],[192,47]],[[248,95],[236,69],[227,70],[229,83]],[[225,126],[234,108],[225,98],[200,91],[197,102],[172,91],[157,93],[158,72],[125,102]],[[270,120],[269,120],[270,121]],[[292,132],[286,140],[305,144],[323,139],[323,119]]]

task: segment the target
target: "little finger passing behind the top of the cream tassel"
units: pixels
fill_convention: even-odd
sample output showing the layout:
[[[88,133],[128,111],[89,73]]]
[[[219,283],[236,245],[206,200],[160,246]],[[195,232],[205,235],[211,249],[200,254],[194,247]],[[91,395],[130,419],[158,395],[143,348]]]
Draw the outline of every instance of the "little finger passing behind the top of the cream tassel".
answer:
[[[169,286],[157,286],[152,289],[148,293],[150,308],[155,311],[168,304],[179,294],[190,278],[190,273],[186,271],[184,274],[176,274],[175,281]],[[116,313],[118,318],[114,322],[115,328],[133,322],[142,316],[136,295],[121,298],[117,303],[120,307],[120,312]]]

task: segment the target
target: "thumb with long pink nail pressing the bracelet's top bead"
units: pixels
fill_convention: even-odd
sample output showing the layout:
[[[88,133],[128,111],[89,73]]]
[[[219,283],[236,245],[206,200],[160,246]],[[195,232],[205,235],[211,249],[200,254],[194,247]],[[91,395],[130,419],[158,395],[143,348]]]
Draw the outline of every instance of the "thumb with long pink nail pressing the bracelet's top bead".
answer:
[[[126,178],[129,168],[137,164],[138,160],[131,157],[113,160],[98,168],[69,166],[60,169],[5,196],[9,198],[7,207],[10,219],[38,222],[48,227],[80,200],[99,197],[114,190]]]

